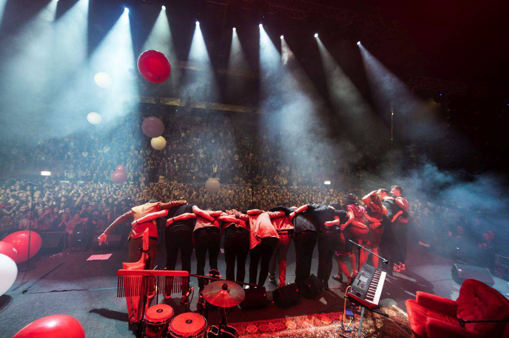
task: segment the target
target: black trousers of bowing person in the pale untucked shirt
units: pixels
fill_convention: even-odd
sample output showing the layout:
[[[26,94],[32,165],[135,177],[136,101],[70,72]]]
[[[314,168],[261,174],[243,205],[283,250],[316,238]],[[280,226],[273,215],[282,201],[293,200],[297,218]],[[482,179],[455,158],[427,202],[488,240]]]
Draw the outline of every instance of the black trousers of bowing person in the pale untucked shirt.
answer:
[[[262,242],[251,249],[249,263],[249,283],[257,284],[258,263],[260,263],[260,275],[258,286],[263,287],[269,275],[269,264],[272,254],[277,246],[276,237],[262,238]]]

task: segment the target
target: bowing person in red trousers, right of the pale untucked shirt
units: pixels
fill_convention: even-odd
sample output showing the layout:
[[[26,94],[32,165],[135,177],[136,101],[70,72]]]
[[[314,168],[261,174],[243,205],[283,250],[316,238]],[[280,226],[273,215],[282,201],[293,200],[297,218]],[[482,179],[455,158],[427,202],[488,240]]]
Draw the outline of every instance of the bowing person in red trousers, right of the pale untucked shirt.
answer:
[[[269,281],[275,282],[276,276],[276,261],[279,266],[278,274],[278,287],[286,285],[286,256],[288,248],[290,247],[290,240],[293,235],[293,224],[289,218],[290,213],[293,210],[284,206],[276,206],[270,209],[270,212],[274,212],[273,218],[271,217],[272,225],[276,228],[277,234],[279,235],[279,242],[277,247],[272,254],[272,258],[269,263]],[[277,217],[279,215],[279,217]]]

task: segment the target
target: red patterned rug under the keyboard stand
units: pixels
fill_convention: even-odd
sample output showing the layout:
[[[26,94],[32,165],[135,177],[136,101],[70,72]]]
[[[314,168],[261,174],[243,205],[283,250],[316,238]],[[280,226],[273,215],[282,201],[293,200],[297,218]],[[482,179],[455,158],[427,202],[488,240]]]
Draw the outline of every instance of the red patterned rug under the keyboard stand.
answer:
[[[407,315],[398,306],[381,309],[390,317],[366,311],[362,322],[362,337],[407,338],[411,336]],[[355,337],[359,315],[355,315],[355,332],[345,332],[341,327],[341,312],[329,312],[288,318],[230,323],[243,338],[264,337]]]

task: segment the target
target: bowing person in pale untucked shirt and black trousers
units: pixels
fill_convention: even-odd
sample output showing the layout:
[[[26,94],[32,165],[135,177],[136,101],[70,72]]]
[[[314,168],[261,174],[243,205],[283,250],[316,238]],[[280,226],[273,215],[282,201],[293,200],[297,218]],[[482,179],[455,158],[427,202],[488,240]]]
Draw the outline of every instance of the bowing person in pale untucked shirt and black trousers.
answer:
[[[279,235],[271,222],[271,214],[260,209],[248,210],[250,237],[249,242],[250,263],[249,283],[257,284],[262,288],[269,274],[269,263],[277,246]],[[275,217],[272,213],[272,217]],[[258,274],[258,263],[260,263],[260,275]]]

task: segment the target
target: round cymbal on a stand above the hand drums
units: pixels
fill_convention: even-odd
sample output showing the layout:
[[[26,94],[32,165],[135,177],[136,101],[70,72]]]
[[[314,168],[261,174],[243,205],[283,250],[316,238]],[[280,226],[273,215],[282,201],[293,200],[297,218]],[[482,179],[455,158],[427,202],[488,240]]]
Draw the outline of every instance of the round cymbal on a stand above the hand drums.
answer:
[[[212,282],[203,290],[203,297],[218,308],[230,308],[240,304],[246,296],[240,285],[231,281]]]

